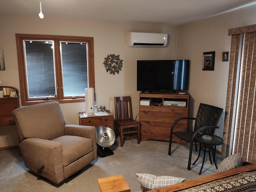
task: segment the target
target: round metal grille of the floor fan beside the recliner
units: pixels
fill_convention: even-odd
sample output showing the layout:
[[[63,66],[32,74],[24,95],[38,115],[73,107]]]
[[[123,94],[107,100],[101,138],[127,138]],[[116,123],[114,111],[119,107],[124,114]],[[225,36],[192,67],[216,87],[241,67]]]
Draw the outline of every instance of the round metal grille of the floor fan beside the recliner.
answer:
[[[107,126],[100,126],[96,128],[96,142],[102,147],[109,147],[115,142],[114,131]]]

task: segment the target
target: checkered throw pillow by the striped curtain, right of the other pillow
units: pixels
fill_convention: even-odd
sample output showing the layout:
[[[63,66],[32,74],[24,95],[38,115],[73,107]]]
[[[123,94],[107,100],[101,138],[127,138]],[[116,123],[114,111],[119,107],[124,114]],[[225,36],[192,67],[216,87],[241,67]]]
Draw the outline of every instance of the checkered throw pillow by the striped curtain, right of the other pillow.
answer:
[[[240,153],[232,154],[225,158],[218,167],[217,173],[243,166],[243,159]]]

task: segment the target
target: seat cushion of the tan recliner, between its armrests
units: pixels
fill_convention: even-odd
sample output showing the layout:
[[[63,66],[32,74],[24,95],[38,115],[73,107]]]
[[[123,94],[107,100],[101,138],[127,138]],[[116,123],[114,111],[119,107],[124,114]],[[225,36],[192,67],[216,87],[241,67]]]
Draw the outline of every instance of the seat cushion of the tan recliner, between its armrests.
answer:
[[[65,135],[52,141],[60,142],[62,145],[63,166],[67,166],[92,151],[92,140],[89,138]]]

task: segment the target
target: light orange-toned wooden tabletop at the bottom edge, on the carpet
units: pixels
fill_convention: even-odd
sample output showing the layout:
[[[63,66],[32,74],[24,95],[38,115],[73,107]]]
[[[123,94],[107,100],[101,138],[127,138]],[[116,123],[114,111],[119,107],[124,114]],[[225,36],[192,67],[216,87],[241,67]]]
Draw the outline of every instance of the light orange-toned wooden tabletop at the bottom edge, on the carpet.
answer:
[[[100,186],[100,192],[130,192],[130,188],[123,176],[114,175],[110,177],[97,179]]]

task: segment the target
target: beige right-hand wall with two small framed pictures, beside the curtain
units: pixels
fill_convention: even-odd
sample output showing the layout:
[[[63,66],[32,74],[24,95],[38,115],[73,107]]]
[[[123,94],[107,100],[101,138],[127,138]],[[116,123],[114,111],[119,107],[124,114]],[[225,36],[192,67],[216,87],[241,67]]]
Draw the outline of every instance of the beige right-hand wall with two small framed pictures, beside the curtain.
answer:
[[[255,20],[256,5],[178,26],[177,59],[186,57],[191,61],[190,116],[196,116],[201,102],[225,111],[229,62],[222,62],[222,52],[230,52],[228,29],[256,24]],[[202,54],[211,51],[215,51],[214,71],[203,71]],[[218,125],[216,134],[222,137],[224,112]]]

